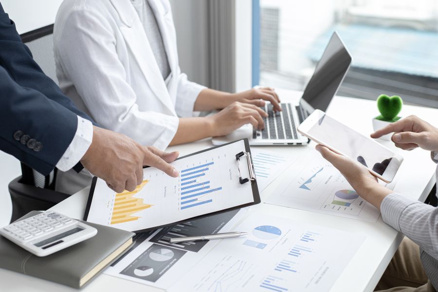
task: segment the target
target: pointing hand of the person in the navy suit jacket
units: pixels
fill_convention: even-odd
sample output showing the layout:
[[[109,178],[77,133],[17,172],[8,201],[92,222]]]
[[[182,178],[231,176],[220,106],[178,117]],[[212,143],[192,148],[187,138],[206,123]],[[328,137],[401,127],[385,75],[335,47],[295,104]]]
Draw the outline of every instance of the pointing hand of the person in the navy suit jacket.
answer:
[[[93,140],[81,163],[121,193],[125,189],[133,191],[143,181],[143,165],[178,177],[178,171],[168,164],[177,157],[178,152],[164,153],[155,147],[141,146],[123,134],[93,126]]]

